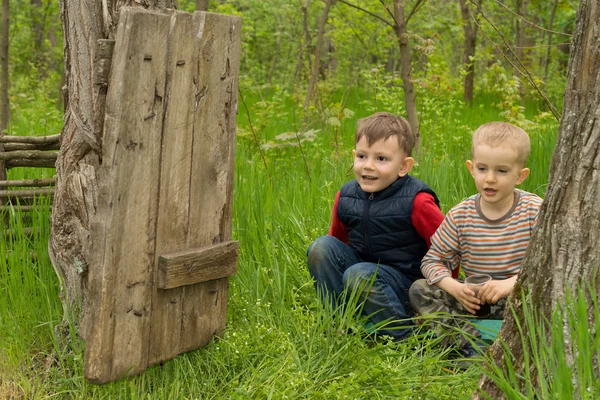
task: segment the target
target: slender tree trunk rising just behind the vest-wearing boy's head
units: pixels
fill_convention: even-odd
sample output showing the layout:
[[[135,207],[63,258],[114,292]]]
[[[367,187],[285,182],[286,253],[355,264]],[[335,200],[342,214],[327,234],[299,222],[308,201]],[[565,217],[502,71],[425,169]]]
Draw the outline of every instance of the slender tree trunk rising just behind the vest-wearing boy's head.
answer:
[[[419,117],[417,115],[417,103],[415,100],[415,89],[412,80],[412,62],[410,56],[410,45],[406,33],[406,21],[404,20],[403,0],[394,0],[394,32],[400,47],[400,75],[404,89],[404,107],[406,108],[406,119],[410,129],[415,135],[415,153],[419,154],[421,147],[421,132],[419,129]]]

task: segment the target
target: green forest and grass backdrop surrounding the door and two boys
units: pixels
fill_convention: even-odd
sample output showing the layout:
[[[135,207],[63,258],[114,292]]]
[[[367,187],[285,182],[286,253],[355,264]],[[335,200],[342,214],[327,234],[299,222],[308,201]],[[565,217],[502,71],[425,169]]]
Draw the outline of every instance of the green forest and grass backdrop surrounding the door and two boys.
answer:
[[[578,2],[403,3],[422,140],[413,174],[448,211],[475,193],[464,166],[471,133],[505,120],[530,134],[532,173],[522,188],[543,196]],[[58,1],[3,4],[10,4],[6,133],[57,134],[64,85]],[[196,3],[181,0],[179,8],[193,11]],[[493,363],[455,370],[448,352],[420,335],[399,345],[365,339],[353,310],[339,316],[320,306],[305,267],[308,244],[327,232],[335,192],[352,179],[356,120],[407,112],[393,2],[210,1],[208,9],[243,19],[233,214],[240,259],[227,330],[138,377],[87,383],[84,343],[74,326],[61,325],[59,282],[47,255],[50,200],[41,198],[29,217],[4,211],[0,398],[454,399],[476,390],[482,373],[518,380]],[[477,27],[466,62],[465,26],[471,34]],[[464,89],[471,68],[472,97]],[[54,173],[15,168],[9,179]],[[24,217],[38,228],[32,235]],[[553,371],[539,390],[558,393],[561,379],[571,380],[561,373]]]

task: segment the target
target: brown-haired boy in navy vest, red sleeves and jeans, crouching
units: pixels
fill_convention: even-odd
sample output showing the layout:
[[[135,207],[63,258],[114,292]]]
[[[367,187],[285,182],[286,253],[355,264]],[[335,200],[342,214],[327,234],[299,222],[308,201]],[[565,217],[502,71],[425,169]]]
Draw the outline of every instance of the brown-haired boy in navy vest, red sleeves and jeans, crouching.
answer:
[[[390,113],[358,121],[354,176],[335,196],[329,234],[308,248],[308,269],[334,307],[357,291],[377,334],[399,341],[412,331],[408,290],[423,279],[421,259],[444,215],[424,182],[408,175],[415,138]]]

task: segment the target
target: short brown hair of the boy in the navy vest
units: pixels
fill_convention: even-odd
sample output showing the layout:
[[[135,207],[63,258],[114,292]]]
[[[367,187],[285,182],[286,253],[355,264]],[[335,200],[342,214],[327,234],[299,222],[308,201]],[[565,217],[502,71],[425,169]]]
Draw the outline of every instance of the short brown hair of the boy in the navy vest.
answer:
[[[387,140],[396,136],[398,146],[406,153],[406,156],[412,154],[415,147],[415,137],[410,130],[408,122],[397,115],[387,112],[378,112],[366,118],[359,119],[357,122],[356,136],[354,143],[365,137],[369,146],[378,140]]]

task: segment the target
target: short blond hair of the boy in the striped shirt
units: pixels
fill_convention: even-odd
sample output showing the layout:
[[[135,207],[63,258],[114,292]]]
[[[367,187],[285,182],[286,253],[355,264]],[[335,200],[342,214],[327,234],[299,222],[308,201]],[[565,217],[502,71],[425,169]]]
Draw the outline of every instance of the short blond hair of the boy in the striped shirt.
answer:
[[[517,161],[525,166],[531,150],[529,135],[523,129],[508,122],[488,122],[473,133],[471,157],[474,158],[475,146],[487,144],[490,147],[508,146],[517,151]]]

